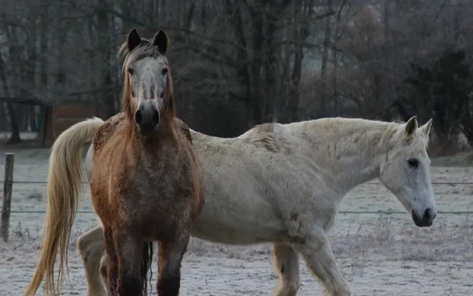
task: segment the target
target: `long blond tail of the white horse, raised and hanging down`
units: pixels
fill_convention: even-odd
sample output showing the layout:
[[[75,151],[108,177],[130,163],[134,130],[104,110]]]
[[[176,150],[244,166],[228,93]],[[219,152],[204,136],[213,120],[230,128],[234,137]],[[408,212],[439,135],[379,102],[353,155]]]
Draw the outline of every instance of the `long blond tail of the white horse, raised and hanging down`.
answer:
[[[93,139],[104,121],[98,117],[86,119],[64,131],[53,144],[49,160],[48,206],[42,232],[39,262],[24,296],[33,296],[43,277],[43,294],[59,295],[64,280],[64,262],[67,270],[67,247],[72,224],[82,193],[84,171],[82,146]],[[58,283],[54,285],[54,264],[60,250]],[[69,274],[68,274],[69,276]]]

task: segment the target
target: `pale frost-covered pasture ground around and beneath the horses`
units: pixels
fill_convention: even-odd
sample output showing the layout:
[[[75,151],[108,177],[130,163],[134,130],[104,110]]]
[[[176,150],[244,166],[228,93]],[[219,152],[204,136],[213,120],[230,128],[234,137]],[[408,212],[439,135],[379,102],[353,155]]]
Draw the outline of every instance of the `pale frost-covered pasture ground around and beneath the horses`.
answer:
[[[15,181],[45,181],[47,149],[13,149]],[[5,147],[0,152],[7,152]],[[4,159],[0,155],[0,180]],[[435,161],[434,161],[435,162]],[[443,165],[448,161],[442,160]],[[450,163],[458,165],[452,159]],[[460,163],[461,164],[461,163]],[[432,167],[434,182],[473,182],[473,167]],[[439,211],[473,212],[473,185],[434,185]],[[38,235],[44,214],[44,184],[15,184],[10,241],[0,242],[0,295],[18,296],[36,263]],[[91,211],[88,188],[81,211]],[[355,188],[340,211],[402,212],[395,197],[377,184]],[[473,295],[473,215],[439,214],[434,226],[416,228],[408,214],[340,214],[330,243],[353,295]],[[96,225],[93,214],[78,214],[70,245],[69,275],[63,295],[84,295],[85,276],[75,240]],[[271,295],[276,278],[270,245],[235,247],[193,240],[182,265],[181,295]],[[156,263],[153,266],[156,274]],[[298,295],[321,295],[316,280],[301,263]],[[155,294],[153,279],[152,293]],[[39,292],[38,292],[39,294]]]

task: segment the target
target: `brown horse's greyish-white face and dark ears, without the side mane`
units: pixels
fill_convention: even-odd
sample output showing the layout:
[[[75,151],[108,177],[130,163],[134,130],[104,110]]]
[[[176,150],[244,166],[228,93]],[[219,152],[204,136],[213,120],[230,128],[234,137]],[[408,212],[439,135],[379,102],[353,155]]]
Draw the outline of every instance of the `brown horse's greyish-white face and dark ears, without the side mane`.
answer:
[[[126,66],[130,107],[139,132],[141,135],[148,136],[157,130],[166,105],[165,100],[169,99],[167,96],[169,93],[167,90],[169,87],[169,64],[164,55],[167,36],[164,31],[160,30],[155,35],[153,43],[145,44],[144,47],[137,47],[130,38],[135,38],[135,41],[139,40],[137,45],[143,44],[139,35],[133,36],[132,31],[128,36],[130,55],[133,55],[133,49],[144,52],[143,56],[129,61]]]

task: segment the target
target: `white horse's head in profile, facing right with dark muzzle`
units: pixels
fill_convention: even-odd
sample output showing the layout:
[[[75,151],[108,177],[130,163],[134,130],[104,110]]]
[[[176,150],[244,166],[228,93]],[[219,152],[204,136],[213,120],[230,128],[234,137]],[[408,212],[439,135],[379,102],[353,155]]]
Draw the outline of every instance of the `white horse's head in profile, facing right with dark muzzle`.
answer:
[[[398,125],[390,149],[380,167],[383,184],[396,195],[419,227],[432,226],[437,208],[427,154],[432,119],[418,127],[416,116]]]

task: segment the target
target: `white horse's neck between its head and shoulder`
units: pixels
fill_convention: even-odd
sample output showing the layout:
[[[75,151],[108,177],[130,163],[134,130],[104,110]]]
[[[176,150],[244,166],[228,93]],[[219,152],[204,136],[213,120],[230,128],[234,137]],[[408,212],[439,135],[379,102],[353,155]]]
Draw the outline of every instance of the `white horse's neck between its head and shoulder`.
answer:
[[[357,185],[380,176],[382,159],[390,149],[396,123],[364,119],[318,119],[294,123],[302,153],[313,162],[323,181],[341,199]]]

